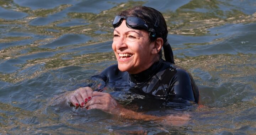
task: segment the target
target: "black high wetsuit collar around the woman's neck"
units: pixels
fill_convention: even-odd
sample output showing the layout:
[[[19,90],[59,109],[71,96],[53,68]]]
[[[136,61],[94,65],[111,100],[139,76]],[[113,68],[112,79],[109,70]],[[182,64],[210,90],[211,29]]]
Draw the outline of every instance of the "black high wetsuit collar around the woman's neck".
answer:
[[[148,69],[138,73],[138,74],[129,74],[129,83],[131,86],[139,86],[146,82],[158,69],[161,67],[164,60],[160,59],[151,65]]]

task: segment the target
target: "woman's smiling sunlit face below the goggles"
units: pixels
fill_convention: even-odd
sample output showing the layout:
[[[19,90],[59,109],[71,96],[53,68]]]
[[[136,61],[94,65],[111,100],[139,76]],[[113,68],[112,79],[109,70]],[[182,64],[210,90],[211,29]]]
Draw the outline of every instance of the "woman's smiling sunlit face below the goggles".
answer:
[[[131,29],[126,21],[114,29],[112,49],[118,61],[120,71],[137,74],[148,69],[154,63],[151,50],[154,42],[150,42],[149,33],[145,30]]]

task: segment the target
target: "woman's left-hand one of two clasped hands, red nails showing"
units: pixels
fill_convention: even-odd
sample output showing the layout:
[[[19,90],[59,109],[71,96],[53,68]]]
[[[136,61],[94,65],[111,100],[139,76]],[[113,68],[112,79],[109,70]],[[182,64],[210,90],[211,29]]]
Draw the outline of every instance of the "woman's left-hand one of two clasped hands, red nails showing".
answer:
[[[92,89],[90,87],[78,88],[68,96],[69,101],[76,107],[84,107],[85,103],[92,99]]]

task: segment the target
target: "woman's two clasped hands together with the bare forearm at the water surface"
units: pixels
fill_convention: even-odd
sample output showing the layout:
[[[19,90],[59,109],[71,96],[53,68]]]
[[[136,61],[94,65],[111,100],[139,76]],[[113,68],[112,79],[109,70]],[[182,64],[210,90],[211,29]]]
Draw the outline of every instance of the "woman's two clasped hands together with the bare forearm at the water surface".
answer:
[[[126,119],[154,120],[167,125],[182,126],[188,123],[190,115],[166,115],[154,116],[134,112],[122,107],[109,93],[92,91],[90,87],[78,88],[67,96],[67,100],[75,107],[90,109],[100,109],[104,112],[118,115]]]

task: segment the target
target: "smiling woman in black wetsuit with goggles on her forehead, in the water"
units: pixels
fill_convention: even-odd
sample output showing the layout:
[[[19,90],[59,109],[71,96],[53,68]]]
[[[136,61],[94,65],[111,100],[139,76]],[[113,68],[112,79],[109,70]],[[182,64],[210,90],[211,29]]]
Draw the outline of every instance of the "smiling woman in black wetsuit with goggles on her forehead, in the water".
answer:
[[[129,87],[151,98],[182,98],[198,103],[199,91],[190,73],[174,64],[167,41],[167,26],[162,14],[150,7],[137,6],[119,12],[112,23],[112,49],[118,64],[102,71],[102,79],[110,82],[127,82]],[[165,60],[161,48],[164,48]],[[78,88],[67,96],[76,107],[100,109],[130,119],[171,120],[181,124],[187,115],[156,117],[124,108],[109,93]]]

